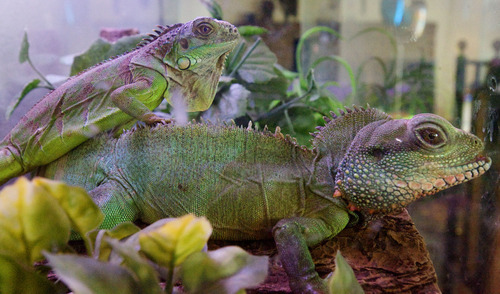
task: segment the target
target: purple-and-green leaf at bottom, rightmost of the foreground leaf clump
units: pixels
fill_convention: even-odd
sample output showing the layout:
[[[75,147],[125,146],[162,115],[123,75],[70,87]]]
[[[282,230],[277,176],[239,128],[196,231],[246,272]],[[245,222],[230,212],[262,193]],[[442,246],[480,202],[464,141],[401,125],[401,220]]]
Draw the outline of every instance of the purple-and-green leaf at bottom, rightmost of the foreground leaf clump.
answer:
[[[237,293],[262,283],[267,268],[267,256],[228,246],[190,255],[181,266],[181,277],[189,293]]]

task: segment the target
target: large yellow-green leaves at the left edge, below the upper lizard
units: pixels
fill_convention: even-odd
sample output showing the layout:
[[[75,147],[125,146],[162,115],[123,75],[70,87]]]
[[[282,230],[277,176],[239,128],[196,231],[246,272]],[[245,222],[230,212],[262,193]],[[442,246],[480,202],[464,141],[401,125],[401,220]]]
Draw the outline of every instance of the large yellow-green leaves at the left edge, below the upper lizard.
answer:
[[[0,192],[0,253],[30,265],[43,259],[42,251],[64,248],[71,228],[85,234],[100,224],[103,215],[82,188],[66,193],[59,184],[47,189],[51,183],[19,178]],[[81,202],[71,207],[71,197]]]

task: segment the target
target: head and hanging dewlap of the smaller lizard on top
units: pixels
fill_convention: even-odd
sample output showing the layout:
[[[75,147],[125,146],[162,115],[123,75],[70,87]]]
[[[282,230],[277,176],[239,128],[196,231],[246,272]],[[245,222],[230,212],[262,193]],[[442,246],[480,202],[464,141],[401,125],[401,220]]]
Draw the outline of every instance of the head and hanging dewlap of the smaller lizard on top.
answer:
[[[172,36],[172,47],[162,56],[172,82],[170,91],[182,96],[187,111],[206,110],[226,58],[239,41],[238,29],[225,21],[200,17],[181,25]],[[166,98],[175,106],[175,97]]]

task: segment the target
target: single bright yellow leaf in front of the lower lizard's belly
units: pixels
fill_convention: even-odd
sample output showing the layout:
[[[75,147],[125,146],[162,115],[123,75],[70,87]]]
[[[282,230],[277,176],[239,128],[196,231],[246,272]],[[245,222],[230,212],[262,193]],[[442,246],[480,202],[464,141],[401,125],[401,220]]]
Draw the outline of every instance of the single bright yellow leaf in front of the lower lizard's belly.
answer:
[[[154,231],[139,233],[139,243],[141,252],[151,260],[172,269],[191,253],[203,249],[211,234],[212,226],[205,217],[188,214]]]

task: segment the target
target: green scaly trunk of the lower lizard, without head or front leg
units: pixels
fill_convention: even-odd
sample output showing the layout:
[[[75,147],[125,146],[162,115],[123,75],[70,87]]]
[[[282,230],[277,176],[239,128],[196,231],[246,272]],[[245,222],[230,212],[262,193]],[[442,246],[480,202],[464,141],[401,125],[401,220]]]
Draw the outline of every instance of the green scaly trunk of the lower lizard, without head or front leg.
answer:
[[[133,202],[108,208],[117,210],[112,215],[135,207],[138,218],[150,223],[195,213],[212,222],[215,238],[263,239],[272,237],[280,219],[338,202],[326,183],[315,193],[308,186],[313,156],[281,133],[158,126],[83,144],[43,175],[81,185],[95,198],[107,199],[113,191],[113,198]]]

